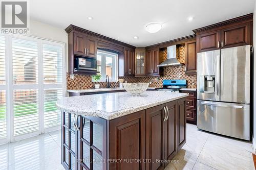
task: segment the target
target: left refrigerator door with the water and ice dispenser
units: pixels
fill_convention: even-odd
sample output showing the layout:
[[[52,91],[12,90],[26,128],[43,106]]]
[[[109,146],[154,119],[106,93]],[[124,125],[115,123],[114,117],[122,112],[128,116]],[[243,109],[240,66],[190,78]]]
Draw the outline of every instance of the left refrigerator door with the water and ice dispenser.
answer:
[[[197,54],[197,99],[220,101],[220,50]]]

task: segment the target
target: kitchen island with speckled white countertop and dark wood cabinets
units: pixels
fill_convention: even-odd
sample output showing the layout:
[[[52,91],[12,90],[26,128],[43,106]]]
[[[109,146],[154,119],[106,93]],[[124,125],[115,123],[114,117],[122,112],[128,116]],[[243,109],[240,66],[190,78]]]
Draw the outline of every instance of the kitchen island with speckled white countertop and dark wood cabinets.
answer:
[[[63,98],[66,169],[164,169],[186,142],[186,93],[145,91]]]

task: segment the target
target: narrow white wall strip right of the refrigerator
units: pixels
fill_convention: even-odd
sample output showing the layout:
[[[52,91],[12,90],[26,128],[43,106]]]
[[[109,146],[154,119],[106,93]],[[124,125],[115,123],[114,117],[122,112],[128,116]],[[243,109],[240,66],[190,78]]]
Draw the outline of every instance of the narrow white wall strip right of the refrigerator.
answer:
[[[253,12],[253,44],[256,42],[256,3],[254,5],[254,12]],[[254,46],[254,45],[253,45]],[[256,48],[253,47],[254,51],[254,63],[253,63],[253,138],[252,138],[252,144],[254,151],[256,149]]]

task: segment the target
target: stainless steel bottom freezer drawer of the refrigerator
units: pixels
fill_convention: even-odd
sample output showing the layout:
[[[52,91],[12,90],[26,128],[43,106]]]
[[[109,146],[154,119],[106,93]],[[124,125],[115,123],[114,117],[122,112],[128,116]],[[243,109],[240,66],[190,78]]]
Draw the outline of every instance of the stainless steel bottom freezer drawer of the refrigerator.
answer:
[[[197,101],[197,127],[209,132],[250,140],[250,105]]]

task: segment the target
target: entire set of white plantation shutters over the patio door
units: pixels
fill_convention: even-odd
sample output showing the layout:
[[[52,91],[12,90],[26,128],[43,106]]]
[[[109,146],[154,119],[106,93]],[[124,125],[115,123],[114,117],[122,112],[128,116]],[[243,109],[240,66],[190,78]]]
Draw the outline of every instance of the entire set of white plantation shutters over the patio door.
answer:
[[[60,128],[55,103],[66,94],[64,49],[59,42],[0,35],[0,144]]]

